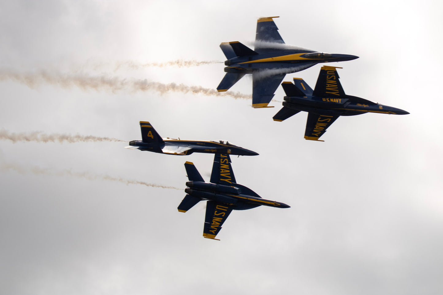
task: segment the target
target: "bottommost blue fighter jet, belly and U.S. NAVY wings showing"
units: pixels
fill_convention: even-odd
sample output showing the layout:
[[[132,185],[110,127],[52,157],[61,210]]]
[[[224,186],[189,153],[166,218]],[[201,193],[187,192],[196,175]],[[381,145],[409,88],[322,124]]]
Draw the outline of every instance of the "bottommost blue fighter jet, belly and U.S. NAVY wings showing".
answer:
[[[186,212],[198,202],[207,200],[203,228],[205,238],[218,240],[215,236],[232,210],[247,210],[260,205],[289,208],[284,203],[263,199],[253,190],[236,183],[227,154],[215,154],[210,183],[203,180],[193,163],[186,162],[185,168],[189,179],[185,189],[187,195],[177,209]]]

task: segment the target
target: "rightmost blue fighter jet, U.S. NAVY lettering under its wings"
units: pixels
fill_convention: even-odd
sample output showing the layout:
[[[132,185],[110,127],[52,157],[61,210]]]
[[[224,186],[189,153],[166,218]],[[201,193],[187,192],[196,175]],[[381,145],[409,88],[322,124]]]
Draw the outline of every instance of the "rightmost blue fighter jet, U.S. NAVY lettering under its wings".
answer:
[[[408,112],[381,105],[366,99],[346,95],[338,80],[336,66],[322,66],[312,90],[302,78],[294,78],[292,82],[283,82],[284,97],[283,108],[273,117],[274,121],[283,121],[300,111],[308,112],[306,140],[319,140],[326,129],[334,123],[339,116],[355,116],[365,113],[381,113],[392,115],[407,115]]]

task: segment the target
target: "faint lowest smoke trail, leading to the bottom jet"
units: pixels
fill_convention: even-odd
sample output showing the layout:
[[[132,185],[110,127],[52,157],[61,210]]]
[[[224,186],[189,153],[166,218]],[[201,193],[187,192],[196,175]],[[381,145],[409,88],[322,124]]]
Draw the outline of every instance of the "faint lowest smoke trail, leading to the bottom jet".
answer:
[[[163,186],[161,184],[155,184],[155,183],[148,183],[144,181],[138,181],[138,180],[131,180],[131,179],[123,179],[121,177],[113,177],[109,175],[94,175],[90,174],[89,172],[73,172],[70,170],[62,170],[62,171],[51,171],[47,168],[40,168],[40,167],[23,167],[16,163],[1,163],[0,164],[0,170],[1,171],[16,171],[20,174],[33,174],[33,175],[49,175],[49,176],[71,176],[81,179],[88,179],[88,180],[107,180],[107,181],[113,181],[113,182],[120,182],[124,183],[126,185],[128,184],[140,184],[144,186],[149,187],[159,187],[164,189],[172,189],[172,190],[182,190],[175,186]]]

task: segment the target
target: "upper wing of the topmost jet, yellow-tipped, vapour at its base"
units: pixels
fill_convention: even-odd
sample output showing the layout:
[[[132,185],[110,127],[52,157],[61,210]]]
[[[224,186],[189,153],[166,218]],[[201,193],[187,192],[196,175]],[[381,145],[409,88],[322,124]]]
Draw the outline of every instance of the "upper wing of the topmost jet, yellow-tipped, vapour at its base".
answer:
[[[272,20],[278,16],[263,17],[257,19],[257,31],[255,35],[255,48],[254,51],[258,53],[276,51],[276,47],[272,46],[272,43],[284,44],[281,38],[278,27]]]

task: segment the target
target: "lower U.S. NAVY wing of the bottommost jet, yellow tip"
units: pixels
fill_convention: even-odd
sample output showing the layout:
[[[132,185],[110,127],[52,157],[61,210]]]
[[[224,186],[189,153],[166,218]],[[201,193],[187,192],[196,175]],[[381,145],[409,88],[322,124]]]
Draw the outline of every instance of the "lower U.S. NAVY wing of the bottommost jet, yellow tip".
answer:
[[[221,225],[228,218],[233,210],[232,206],[215,201],[206,202],[205,226],[203,228],[203,237],[214,239],[221,229]],[[219,240],[220,241],[220,240]]]

